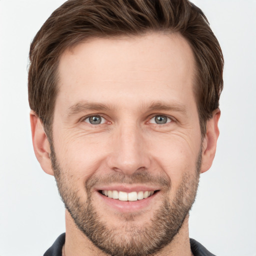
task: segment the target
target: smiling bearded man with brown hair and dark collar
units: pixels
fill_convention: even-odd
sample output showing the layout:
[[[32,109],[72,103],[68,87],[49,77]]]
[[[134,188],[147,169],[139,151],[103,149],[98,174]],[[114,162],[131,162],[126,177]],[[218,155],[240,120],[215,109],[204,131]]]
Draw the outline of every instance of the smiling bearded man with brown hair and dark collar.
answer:
[[[30,47],[35,155],[66,233],[48,255],[213,255],[188,235],[223,57],[187,0],[68,0]]]

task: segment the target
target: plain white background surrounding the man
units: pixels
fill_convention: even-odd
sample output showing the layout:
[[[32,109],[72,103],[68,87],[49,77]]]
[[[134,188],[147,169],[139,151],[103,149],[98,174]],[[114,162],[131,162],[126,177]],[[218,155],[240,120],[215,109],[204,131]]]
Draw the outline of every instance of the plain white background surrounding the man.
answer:
[[[63,0],[0,0],[0,256],[42,255],[64,232],[54,178],[33,153],[29,44]],[[194,0],[225,58],[215,161],[201,175],[190,237],[218,256],[256,255],[256,0]]]

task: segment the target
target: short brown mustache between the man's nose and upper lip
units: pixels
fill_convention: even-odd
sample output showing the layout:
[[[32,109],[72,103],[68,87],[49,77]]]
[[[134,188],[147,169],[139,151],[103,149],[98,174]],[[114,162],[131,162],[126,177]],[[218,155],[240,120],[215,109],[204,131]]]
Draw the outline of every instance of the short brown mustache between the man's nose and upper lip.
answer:
[[[105,175],[96,175],[92,174],[85,181],[85,188],[88,191],[91,190],[93,186],[101,184],[111,184],[111,183],[120,183],[120,184],[156,184],[162,188],[168,189],[171,185],[170,179],[167,175],[159,174],[153,175],[146,170],[136,171],[132,175],[125,175],[121,172],[115,172]]]

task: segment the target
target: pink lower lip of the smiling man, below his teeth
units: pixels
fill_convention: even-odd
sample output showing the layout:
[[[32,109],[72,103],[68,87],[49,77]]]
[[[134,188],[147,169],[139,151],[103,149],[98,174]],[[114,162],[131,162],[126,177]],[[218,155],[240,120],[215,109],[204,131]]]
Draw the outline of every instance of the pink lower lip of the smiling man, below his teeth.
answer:
[[[139,211],[148,206],[149,204],[151,204],[154,201],[155,196],[157,195],[158,192],[152,194],[147,198],[136,201],[120,201],[118,199],[109,198],[98,191],[97,193],[100,199],[109,207],[117,209],[120,212],[134,212]]]

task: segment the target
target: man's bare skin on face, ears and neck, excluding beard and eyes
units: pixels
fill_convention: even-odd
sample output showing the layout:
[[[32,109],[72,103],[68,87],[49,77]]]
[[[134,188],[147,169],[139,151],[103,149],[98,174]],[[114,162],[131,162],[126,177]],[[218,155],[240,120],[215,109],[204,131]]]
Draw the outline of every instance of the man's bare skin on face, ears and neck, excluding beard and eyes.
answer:
[[[93,38],[61,55],[53,146],[63,175],[75,185],[77,195],[86,199],[84,182],[93,175],[121,173],[131,177],[147,171],[171,182],[168,192],[160,185],[151,185],[159,192],[146,205],[135,210],[126,207],[124,211],[105,203],[97,191],[104,186],[120,188],[120,184],[95,184],[91,191],[93,206],[107,227],[122,230],[130,213],[136,214],[138,227],[150,222],[163,196],[170,201],[175,198],[184,175],[194,179],[201,146],[200,172],[211,166],[220,111],[216,109],[207,121],[201,140],[194,70],[190,46],[175,33]],[[88,123],[88,115],[93,114],[102,116],[103,122]],[[155,123],[156,115],[167,116],[167,122]],[[35,155],[42,169],[53,175],[49,143],[33,111],[30,120]],[[143,185],[121,184],[121,188],[133,191]],[[67,211],[64,250],[66,256],[103,255]],[[157,255],[191,255],[188,215],[171,243]]]

